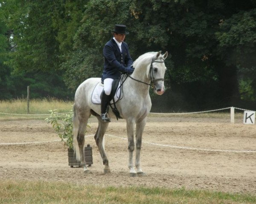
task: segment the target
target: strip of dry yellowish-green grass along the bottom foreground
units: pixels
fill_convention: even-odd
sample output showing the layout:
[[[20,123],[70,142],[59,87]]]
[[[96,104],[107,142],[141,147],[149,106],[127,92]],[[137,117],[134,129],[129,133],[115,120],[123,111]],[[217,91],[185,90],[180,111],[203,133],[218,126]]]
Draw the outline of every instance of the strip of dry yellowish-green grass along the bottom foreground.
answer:
[[[0,203],[254,204],[256,196],[185,188],[98,187],[57,181],[0,181]]]

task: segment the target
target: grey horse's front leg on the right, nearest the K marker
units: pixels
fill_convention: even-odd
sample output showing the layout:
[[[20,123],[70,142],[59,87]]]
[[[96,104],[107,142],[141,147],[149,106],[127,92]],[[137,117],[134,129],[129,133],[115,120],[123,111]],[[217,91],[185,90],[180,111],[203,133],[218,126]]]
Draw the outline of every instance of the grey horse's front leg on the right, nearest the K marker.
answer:
[[[136,124],[136,161],[135,161],[135,167],[137,170],[137,174],[139,176],[144,175],[141,167],[140,167],[140,150],[141,150],[141,143],[142,143],[142,134],[144,127],[146,125],[146,119],[143,119],[140,122],[137,122]]]

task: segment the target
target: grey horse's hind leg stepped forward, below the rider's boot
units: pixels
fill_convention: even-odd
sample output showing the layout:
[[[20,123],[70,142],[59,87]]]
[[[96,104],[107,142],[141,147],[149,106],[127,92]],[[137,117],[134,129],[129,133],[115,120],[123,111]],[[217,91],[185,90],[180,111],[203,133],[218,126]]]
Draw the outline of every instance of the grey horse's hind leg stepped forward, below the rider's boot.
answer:
[[[96,144],[98,146],[98,149],[99,149],[99,153],[102,157],[102,161],[103,161],[103,164],[104,164],[104,173],[110,173],[110,168],[109,168],[109,165],[108,165],[108,158],[107,158],[107,155],[105,153],[105,149],[103,147],[103,137],[104,137],[104,134],[108,128],[108,122],[102,122],[100,116],[97,116],[97,119],[99,121],[99,125],[98,125],[98,129],[97,129],[97,132],[94,136],[94,139],[96,141]]]

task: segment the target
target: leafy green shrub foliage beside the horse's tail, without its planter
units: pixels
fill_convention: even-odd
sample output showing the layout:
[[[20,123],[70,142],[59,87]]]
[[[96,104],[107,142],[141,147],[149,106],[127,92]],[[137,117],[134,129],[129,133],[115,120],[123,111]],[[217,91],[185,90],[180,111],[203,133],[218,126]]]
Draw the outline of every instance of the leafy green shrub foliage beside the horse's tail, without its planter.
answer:
[[[73,149],[73,113],[60,115],[56,110],[49,111],[51,114],[45,120],[52,124],[53,129],[58,134],[61,141],[69,148]]]

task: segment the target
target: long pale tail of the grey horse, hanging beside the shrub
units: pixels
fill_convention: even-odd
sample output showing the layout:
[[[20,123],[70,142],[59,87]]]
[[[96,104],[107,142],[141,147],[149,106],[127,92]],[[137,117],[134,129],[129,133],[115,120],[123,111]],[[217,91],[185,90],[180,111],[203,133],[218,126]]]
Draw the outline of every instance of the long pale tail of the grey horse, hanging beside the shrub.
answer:
[[[74,149],[74,152],[76,153],[76,160],[81,161],[79,145],[77,141],[78,128],[79,128],[79,120],[77,117],[76,104],[74,104],[73,105],[73,149]]]

